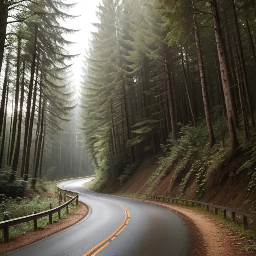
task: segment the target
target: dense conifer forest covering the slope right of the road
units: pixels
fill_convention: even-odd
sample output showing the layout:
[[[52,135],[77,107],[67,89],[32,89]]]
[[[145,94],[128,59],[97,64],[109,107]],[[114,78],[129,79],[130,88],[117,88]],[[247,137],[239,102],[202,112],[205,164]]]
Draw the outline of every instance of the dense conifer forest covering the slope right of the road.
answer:
[[[191,178],[199,199],[239,175],[254,191],[256,2],[103,0],[97,17],[81,102],[97,187],[159,156],[151,178],[175,166],[179,196]]]

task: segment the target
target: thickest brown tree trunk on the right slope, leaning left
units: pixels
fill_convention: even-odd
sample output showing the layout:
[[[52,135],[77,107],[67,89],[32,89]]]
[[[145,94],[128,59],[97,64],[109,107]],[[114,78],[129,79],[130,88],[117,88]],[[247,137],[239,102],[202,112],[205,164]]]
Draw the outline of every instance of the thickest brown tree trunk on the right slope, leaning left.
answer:
[[[221,34],[217,0],[212,0],[211,6],[212,6],[213,24],[215,28],[215,37],[216,37],[218,58],[219,58],[220,71],[221,71],[222,86],[223,86],[224,97],[226,102],[231,150],[232,152],[234,152],[237,149],[239,143],[238,143],[237,134],[234,126],[234,111],[232,106],[232,97],[230,93],[230,81],[229,81],[228,71],[227,71],[227,61],[226,61],[226,56],[224,52],[224,43],[223,43],[223,38]]]

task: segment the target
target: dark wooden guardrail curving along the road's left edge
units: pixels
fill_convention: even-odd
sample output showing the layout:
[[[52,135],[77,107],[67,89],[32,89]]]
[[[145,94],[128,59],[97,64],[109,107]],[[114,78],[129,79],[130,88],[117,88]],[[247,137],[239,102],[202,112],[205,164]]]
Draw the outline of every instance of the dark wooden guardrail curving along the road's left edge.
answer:
[[[58,181],[57,183],[59,183]],[[79,200],[79,193],[74,193],[72,191],[64,190],[61,189],[57,186],[57,183],[54,184],[55,187],[55,192],[58,193],[59,195],[59,204],[64,200],[65,203],[62,205],[59,205],[58,207],[54,209],[49,209],[40,213],[35,213],[32,215],[20,217],[20,218],[14,218],[14,219],[9,219],[0,222],[0,230],[3,229],[3,241],[4,242],[9,242],[9,227],[15,226],[17,224],[21,223],[26,223],[29,221],[33,221],[34,223],[34,231],[37,230],[37,219],[43,218],[46,216],[49,216],[49,223],[52,224],[52,214],[58,212],[58,219],[61,219],[61,210],[66,208],[66,214],[69,214],[69,204],[73,203],[74,201],[76,202],[76,205],[78,205],[78,200]],[[64,193],[64,196],[63,196]],[[71,196],[71,194],[74,194],[75,196]],[[66,198],[69,197],[71,198],[69,201],[66,202]],[[51,208],[51,206],[50,206]]]

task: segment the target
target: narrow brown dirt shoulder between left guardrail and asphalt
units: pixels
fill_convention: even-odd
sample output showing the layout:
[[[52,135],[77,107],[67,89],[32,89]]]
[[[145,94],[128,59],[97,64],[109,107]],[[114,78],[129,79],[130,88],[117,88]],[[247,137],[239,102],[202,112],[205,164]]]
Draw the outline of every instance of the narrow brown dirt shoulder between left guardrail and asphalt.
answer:
[[[0,243],[0,255],[20,249],[24,246],[30,245],[34,242],[52,236],[68,227],[73,226],[82,220],[88,213],[88,208],[85,204],[79,202],[78,209],[71,213],[68,218],[61,219],[57,223],[46,225],[43,229],[38,231],[30,231],[24,235],[12,238],[9,243]]]

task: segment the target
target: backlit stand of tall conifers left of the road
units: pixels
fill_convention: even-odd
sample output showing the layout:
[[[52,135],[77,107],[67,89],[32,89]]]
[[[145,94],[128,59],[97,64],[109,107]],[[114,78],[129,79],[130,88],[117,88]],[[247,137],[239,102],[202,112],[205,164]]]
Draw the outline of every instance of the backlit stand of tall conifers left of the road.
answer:
[[[93,173],[78,127],[78,99],[61,20],[63,0],[0,1],[0,194],[22,196],[38,179]],[[75,28],[74,28],[75,29]]]

